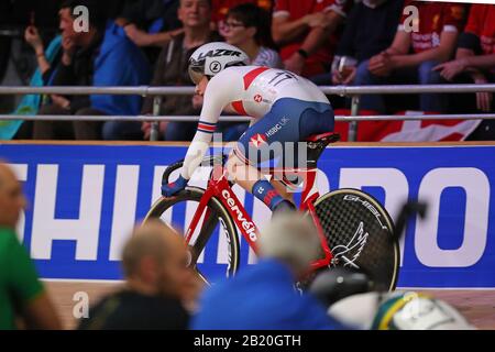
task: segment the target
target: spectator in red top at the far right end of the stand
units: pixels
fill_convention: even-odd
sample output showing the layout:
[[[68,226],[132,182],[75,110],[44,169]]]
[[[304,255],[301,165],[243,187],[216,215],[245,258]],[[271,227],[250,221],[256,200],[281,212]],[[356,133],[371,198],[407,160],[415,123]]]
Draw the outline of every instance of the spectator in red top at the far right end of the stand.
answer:
[[[495,82],[495,6],[472,4],[468,24],[461,34],[455,59],[435,69],[447,80],[458,82]],[[493,94],[477,92],[476,108],[493,111]],[[484,120],[470,136],[473,140],[495,140],[495,123]]]

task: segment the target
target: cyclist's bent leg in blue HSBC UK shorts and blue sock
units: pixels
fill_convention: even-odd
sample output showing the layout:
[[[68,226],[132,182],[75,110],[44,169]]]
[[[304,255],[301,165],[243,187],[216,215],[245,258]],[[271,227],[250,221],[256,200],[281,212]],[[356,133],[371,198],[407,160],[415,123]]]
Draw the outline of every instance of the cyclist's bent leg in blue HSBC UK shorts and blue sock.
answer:
[[[298,166],[298,142],[310,134],[332,130],[333,110],[330,105],[280,99],[241,136],[228,163],[229,173],[241,187],[273,210],[292,197],[282,183],[265,179],[257,169],[258,164],[280,157],[283,167]],[[294,143],[288,152],[287,143]],[[287,157],[292,157],[288,164]]]

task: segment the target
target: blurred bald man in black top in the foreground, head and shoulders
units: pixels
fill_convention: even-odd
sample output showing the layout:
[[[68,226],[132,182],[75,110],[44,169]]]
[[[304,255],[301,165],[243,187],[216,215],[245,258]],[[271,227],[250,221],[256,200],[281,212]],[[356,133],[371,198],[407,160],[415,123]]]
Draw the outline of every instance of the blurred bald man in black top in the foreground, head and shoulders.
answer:
[[[185,307],[198,288],[187,257],[184,238],[163,222],[138,228],[122,253],[125,288],[90,308],[79,329],[187,329],[189,312]]]

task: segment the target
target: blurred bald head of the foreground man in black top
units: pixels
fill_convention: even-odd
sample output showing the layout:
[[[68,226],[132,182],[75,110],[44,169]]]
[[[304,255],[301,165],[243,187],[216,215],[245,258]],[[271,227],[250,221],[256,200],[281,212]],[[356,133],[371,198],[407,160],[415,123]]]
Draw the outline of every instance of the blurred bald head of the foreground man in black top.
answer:
[[[183,298],[191,279],[184,239],[163,222],[134,230],[122,253],[129,286],[145,295]]]

